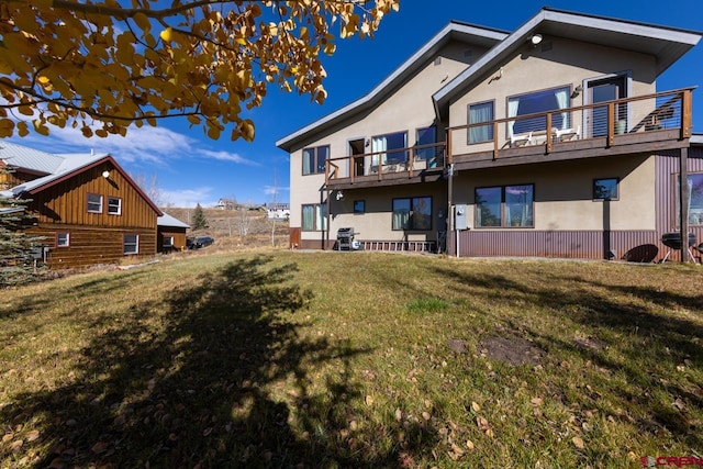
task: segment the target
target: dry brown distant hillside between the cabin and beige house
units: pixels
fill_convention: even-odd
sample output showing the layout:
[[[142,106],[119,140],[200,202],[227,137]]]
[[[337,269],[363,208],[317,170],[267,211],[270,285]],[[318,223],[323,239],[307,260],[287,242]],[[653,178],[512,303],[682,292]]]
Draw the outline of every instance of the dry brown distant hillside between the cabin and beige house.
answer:
[[[164,212],[190,224],[196,209],[166,208]],[[209,235],[221,247],[271,246],[271,230],[275,230],[276,247],[288,247],[288,222],[271,221],[263,211],[235,211],[203,209],[209,227],[188,230],[188,236]],[[247,230],[248,227],[248,230]],[[244,234],[246,232],[246,234]]]

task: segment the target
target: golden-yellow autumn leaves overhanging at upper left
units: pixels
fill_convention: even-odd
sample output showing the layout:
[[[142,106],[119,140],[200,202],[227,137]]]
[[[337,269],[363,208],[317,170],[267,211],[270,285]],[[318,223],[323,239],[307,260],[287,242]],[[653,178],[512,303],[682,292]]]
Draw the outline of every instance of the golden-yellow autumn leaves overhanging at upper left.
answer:
[[[269,86],[322,103],[335,29],[370,36],[399,1],[2,1],[0,137],[51,126],[125,135],[185,116],[211,138],[231,129],[252,141],[244,109]]]

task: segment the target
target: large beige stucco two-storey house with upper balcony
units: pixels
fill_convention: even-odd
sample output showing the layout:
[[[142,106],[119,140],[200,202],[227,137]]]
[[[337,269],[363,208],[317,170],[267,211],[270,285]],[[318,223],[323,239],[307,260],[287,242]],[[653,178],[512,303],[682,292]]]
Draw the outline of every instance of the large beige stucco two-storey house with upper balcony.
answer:
[[[354,227],[367,249],[655,260],[666,233],[703,242],[693,89],[656,89],[700,37],[551,9],[513,33],[450,23],[278,142],[291,244],[332,248]]]

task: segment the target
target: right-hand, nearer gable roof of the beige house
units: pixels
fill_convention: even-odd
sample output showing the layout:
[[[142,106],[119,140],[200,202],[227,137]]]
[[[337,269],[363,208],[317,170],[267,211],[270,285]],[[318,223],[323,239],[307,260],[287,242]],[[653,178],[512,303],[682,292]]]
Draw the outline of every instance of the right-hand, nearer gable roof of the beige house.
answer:
[[[488,70],[500,67],[537,33],[604,46],[616,44],[618,48],[654,55],[657,58],[657,76],[695,46],[702,37],[700,32],[543,8],[476,64],[433,94],[437,116],[446,118],[448,104],[455,98],[470,89]]]

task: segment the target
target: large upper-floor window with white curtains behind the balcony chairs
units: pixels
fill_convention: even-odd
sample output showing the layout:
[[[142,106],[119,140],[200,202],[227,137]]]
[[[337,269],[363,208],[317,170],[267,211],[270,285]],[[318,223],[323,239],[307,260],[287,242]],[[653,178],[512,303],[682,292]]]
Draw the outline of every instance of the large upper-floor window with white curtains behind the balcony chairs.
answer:
[[[520,118],[521,115],[546,113],[567,109],[571,105],[570,87],[553,88],[526,94],[520,94],[507,99],[507,116]],[[551,127],[566,130],[571,126],[571,115],[568,112],[556,112],[551,114]],[[517,119],[507,123],[509,136],[524,134],[527,132],[545,131],[547,129],[547,118]]]

